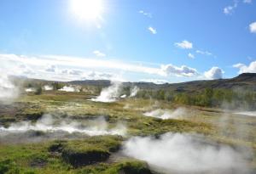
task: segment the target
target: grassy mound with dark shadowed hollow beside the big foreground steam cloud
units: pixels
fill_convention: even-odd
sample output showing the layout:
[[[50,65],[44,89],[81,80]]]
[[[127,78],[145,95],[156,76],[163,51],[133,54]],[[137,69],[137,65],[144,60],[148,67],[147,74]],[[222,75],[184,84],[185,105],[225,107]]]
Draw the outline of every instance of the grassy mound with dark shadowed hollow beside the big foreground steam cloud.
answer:
[[[50,152],[61,153],[62,159],[73,167],[92,165],[108,160],[119,149],[120,137],[99,136],[85,140],[56,142],[49,146]]]

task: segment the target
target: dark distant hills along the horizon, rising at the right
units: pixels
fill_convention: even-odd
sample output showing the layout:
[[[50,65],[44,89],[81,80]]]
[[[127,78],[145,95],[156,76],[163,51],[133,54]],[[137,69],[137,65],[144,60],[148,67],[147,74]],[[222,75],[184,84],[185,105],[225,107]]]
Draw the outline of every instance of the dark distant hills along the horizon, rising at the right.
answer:
[[[52,83],[55,81],[44,81],[37,79],[21,78],[21,81],[35,82],[35,83]],[[84,81],[67,81],[61,82],[71,85],[89,85],[98,87],[108,87],[111,81],[108,80],[84,80]],[[165,83],[154,84],[152,82],[124,82],[124,86],[137,86],[141,89],[168,89],[175,92],[195,93],[207,87],[221,88],[221,89],[242,89],[256,91],[256,73],[243,73],[231,79],[218,79],[218,80],[204,80],[204,81],[187,81],[182,83]]]

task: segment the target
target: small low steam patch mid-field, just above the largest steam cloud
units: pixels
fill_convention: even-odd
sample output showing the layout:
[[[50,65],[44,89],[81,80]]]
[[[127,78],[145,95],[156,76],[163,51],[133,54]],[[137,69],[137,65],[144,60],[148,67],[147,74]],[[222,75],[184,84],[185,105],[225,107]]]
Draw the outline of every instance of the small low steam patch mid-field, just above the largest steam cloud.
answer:
[[[166,119],[176,119],[186,114],[186,109],[177,108],[174,110],[170,109],[155,109],[149,112],[145,112],[143,115],[151,116],[155,118],[160,118],[162,120]]]

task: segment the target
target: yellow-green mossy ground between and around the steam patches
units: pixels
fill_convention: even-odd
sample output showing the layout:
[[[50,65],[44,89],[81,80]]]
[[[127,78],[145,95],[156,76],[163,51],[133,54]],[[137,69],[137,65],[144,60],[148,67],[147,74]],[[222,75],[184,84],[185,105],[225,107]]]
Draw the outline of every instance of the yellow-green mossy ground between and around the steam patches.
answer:
[[[24,94],[13,104],[1,104],[0,125],[18,121],[37,121],[44,114],[63,115],[86,121],[98,116],[108,118],[109,126],[122,122],[127,136],[97,136],[39,143],[0,144],[0,173],[150,173],[147,164],[137,160],[107,162],[119,145],[131,136],[160,135],[165,132],[201,133],[219,143],[253,149],[251,166],[256,168],[256,118],[224,114],[218,109],[186,108],[179,119],[160,120],[146,117],[153,109],[175,109],[179,105],[164,101],[127,98],[115,103],[95,103],[87,93],[44,92]],[[1,141],[0,141],[1,142]],[[77,156],[89,158],[98,154],[102,160],[84,164],[72,162]],[[78,155],[79,154],[79,155]],[[72,158],[70,156],[73,156]],[[94,156],[94,155],[92,155]],[[106,157],[106,158],[105,158]]]

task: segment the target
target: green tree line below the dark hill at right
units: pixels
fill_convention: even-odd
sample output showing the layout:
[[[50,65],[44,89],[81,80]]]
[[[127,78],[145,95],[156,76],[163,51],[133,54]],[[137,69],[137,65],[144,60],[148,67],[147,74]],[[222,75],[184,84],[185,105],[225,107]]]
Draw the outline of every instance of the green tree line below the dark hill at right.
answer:
[[[172,90],[140,90],[137,98],[154,98],[175,104],[204,107],[256,109],[256,92],[206,88],[196,93],[177,93]]]

